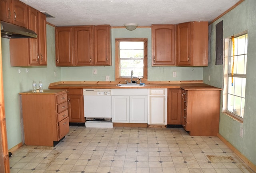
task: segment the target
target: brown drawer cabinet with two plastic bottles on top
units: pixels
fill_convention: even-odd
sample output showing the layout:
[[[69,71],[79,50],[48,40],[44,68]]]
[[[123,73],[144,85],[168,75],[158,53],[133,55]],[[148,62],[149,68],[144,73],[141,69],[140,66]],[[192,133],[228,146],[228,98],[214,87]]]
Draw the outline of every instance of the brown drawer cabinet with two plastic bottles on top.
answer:
[[[55,146],[69,132],[67,93],[46,89],[20,93],[26,145]]]

